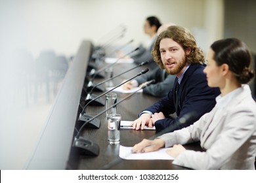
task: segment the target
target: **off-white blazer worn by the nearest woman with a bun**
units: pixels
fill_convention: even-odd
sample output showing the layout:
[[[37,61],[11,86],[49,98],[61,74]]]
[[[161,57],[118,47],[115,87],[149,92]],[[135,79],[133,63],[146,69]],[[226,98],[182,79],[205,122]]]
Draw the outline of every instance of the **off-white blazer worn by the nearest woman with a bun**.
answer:
[[[173,164],[192,169],[255,169],[256,103],[246,84],[216,98],[211,112],[189,127],[161,135],[165,147],[200,141],[205,152],[185,150]]]

